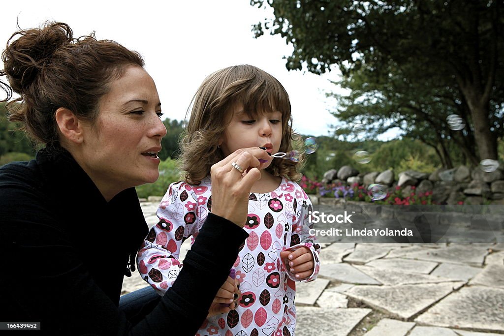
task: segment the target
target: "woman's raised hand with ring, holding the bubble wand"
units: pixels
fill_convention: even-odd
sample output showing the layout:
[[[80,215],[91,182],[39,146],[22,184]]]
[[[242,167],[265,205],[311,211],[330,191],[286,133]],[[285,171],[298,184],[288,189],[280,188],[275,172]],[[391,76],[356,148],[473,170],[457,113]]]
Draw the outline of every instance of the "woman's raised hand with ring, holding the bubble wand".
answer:
[[[245,225],[248,213],[248,195],[261,178],[262,160],[271,160],[259,147],[239,149],[217,162],[210,169],[212,177],[212,213],[239,227]],[[233,167],[235,163],[241,170]]]

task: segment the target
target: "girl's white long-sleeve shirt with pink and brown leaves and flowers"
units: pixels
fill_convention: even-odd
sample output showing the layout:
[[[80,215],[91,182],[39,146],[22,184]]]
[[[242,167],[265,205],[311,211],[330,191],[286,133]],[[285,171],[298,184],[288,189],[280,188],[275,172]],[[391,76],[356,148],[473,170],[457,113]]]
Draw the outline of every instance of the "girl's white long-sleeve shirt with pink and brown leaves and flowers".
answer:
[[[150,230],[138,254],[142,277],[161,294],[182,267],[178,260],[181,243],[189,236],[194,242],[212,209],[211,188],[210,177],[199,185],[172,183],[161,201],[159,223]],[[285,178],[272,192],[250,193],[244,226],[249,237],[233,265],[235,279],[240,282],[239,306],[205,320],[197,336],[294,336],[295,282],[299,280],[286,270],[280,252],[307,247],[315,266],[313,274],[301,281],[317,277],[320,245],[309,234],[311,210],[304,190]]]

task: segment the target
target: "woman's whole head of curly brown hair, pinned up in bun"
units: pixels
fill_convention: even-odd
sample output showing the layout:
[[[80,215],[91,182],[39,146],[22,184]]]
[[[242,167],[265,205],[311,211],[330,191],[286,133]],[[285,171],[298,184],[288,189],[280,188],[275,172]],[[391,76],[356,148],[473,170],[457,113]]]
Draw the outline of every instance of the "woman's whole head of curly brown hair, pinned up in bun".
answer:
[[[7,93],[2,101],[8,101],[12,91],[20,96],[7,104],[9,119],[21,123],[30,138],[46,145],[59,144],[54,119],[59,107],[93,123],[110,82],[130,65],[144,66],[136,51],[114,41],[97,40],[94,34],[74,38],[72,29],[62,22],[46,22],[40,28],[14,33],[2,61],[0,77],[6,76],[10,84],[0,81]]]

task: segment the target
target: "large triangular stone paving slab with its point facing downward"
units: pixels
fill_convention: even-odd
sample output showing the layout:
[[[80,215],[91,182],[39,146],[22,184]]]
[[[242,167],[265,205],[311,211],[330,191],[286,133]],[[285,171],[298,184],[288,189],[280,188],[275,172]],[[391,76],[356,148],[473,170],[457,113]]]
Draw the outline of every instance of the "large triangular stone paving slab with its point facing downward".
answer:
[[[402,286],[355,286],[346,294],[371,307],[408,319],[450,294],[464,283]]]

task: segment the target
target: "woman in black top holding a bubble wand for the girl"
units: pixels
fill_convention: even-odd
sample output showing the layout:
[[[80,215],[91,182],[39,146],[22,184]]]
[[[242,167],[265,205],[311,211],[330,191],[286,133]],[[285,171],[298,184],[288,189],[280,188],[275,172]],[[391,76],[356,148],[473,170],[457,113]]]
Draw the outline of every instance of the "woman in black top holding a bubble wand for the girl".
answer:
[[[48,334],[194,335],[247,237],[248,193],[268,154],[240,150],[212,167],[213,214],[172,290],[154,307],[121,309],[147,234],[134,186],[158,178],[166,135],[155,84],[138,53],[74,39],[64,23],[15,33],[2,59],[22,102],[10,119],[45,148],[0,168],[0,320],[40,321]]]

